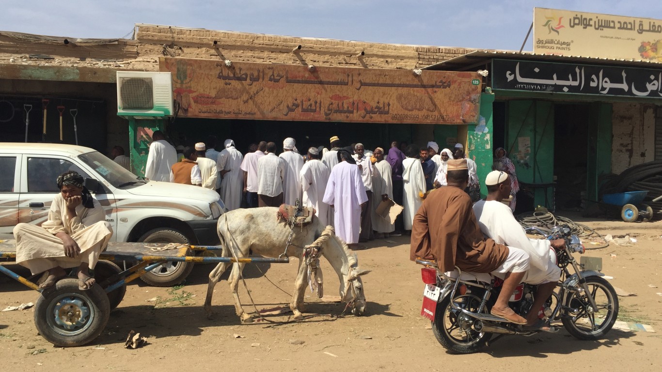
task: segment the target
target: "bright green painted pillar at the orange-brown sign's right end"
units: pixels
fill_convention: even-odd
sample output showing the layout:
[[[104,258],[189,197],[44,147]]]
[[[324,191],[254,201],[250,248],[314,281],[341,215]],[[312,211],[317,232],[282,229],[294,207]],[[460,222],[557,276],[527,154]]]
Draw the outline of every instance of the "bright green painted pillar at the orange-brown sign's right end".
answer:
[[[467,130],[467,154],[476,162],[476,172],[481,181],[481,197],[487,196],[485,177],[492,170],[493,146],[492,136],[494,132],[492,104],[495,95],[489,93],[481,94],[481,111],[478,125],[469,124]]]

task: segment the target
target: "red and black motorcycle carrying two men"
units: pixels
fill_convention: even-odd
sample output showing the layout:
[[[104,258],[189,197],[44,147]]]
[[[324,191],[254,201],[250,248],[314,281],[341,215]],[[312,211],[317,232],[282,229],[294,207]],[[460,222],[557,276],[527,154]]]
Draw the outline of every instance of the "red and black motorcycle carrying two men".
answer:
[[[538,311],[538,318],[549,323],[561,320],[565,329],[580,340],[602,338],[616,322],[618,297],[614,287],[602,278],[603,273],[584,269],[589,265],[601,269],[602,259],[586,257],[589,259],[577,263],[573,253],[584,254],[585,248],[567,226],[556,226],[551,234],[538,228],[527,230],[549,240],[565,240],[564,248],[550,250],[550,259],[561,268],[561,279],[542,308],[531,308],[538,287],[526,283],[518,285],[510,297],[510,307],[520,316]],[[475,353],[502,336],[542,332],[490,314],[500,293],[500,279],[487,273],[463,272],[458,267],[444,273],[434,261],[424,259],[416,259],[416,263],[425,266],[421,269],[425,283],[421,315],[432,322],[435,338],[451,353]]]

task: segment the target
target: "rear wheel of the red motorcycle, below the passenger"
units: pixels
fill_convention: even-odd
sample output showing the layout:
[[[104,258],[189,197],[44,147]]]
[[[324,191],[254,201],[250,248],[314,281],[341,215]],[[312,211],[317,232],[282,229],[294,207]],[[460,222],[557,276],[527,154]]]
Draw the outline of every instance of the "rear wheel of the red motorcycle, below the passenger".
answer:
[[[461,295],[453,301],[461,308],[477,312],[481,299],[475,295]],[[487,312],[487,308],[483,310]],[[492,337],[491,333],[473,329],[473,318],[451,307],[448,296],[437,305],[432,322],[432,333],[437,341],[451,353],[470,354],[479,351]]]

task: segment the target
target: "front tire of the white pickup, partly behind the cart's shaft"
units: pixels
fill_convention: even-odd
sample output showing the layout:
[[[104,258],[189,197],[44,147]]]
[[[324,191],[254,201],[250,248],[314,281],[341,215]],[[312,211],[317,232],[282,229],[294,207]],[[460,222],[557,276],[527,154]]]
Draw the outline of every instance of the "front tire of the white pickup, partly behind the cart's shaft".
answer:
[[[171,228],[155,228],[143,234],[138,242],[189,244],[188,238]],[[183,282],[193,270],[193,262],[166,262],[142,275],[140,279],[153,287],[172,287]]]

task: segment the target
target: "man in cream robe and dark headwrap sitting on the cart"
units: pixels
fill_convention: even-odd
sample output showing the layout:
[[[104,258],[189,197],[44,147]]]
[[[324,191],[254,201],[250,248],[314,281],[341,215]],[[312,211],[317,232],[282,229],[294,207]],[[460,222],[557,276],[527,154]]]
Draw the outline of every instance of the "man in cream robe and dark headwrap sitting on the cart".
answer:
[[[89,275],[99,254],[113,236],[101,204],[83,186],[83,177],[68,171],[57,179],[60,193],[53,199],[48,220],[42,226],[17,224],[16,261],[32,274],[48,271],[40,289],[52,287],[66,277],[65,269],[78,267],[78,288],[89,289],[95,280]]]

